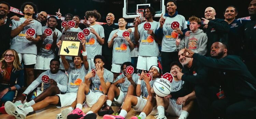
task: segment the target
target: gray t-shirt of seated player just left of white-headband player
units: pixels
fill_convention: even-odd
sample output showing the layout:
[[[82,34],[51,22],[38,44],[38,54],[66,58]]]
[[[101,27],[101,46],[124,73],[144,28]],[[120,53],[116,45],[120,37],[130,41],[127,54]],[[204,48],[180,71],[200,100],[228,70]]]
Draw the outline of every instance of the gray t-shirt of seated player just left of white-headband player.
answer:
[[[124,74],[121,74],[121,75],[119,75],[117,78],[116,78],[116,80],[114,81],[114,82],[116,82],[116,81],[118,81],[119,79],[122,79],[122,78],[124,78],[125,77],[125,75]],[[131,77],[132,77],[132,80],[137,84],[137,82],[138,82],[138,79],[140,78],[140,76],[138,75],[138,74],[136,74],[136,73],[133,73],[132,75],[131,75]],[[114,83],[113,82],[113,83]],[[127,79],[127,77],[125,78],[125,82],[124,83],[119,83],[119,84],[117,84],[116,86],[117,87],[120,87],[120,90],[122,90],[123,92],[127,92],[128,91],[128,87],[131,85],[131,82]]]

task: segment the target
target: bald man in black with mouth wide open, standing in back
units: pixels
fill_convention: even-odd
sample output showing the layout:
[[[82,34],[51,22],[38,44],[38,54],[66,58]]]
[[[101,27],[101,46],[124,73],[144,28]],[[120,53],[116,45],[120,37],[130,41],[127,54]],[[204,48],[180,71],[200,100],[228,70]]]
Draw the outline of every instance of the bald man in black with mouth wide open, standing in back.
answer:
[[[109,13],[106,16],[106,22],[107,23],[101,25],[104,28],[104,34],[105,34],[104,44],[102,45],[102,56],[104,56],[105,60],[106,60],[104,68],[106,68],[108,70],[111,70],[111,66],[112,66],[112,51],[113,51],[113,47],[112,48],[108,47],[109,35],[110,35],[110,33],[113,30],[119,28],[117,25],[114,24],[114,20],[115,20],[114,14]]]

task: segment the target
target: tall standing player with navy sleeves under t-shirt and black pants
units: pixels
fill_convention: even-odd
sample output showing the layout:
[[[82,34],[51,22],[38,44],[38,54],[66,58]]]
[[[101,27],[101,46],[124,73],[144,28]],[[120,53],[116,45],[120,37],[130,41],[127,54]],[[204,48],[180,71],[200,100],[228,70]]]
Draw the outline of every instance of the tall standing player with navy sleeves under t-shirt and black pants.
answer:
[[[175,0],[167,1],[166,8],[168,13],[159,19],[160,26],[156,31],[158,39],[162,40],[162,68],[163,74],[170,71],[170,65],[178,61],[175,40],[178,34],[183,37],[187,31],[185,17],[176,11],[177,3]]]

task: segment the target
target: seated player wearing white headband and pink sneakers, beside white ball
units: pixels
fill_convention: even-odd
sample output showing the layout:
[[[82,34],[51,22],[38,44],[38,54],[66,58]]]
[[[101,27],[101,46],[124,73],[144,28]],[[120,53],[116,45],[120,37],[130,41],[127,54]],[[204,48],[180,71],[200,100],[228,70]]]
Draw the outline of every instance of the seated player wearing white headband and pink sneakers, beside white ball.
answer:
[[[104,115],[103,119],[115,119],[115,118],[125,119],[125,117],[127,116],[127,113],[131,110],[131,106],[133,106],[133,109],[136,112],[141,112],[143,111],[143,108],[145,107],[145,105],[148,105],[147,109],[152,110],[150,114],[156,115],[157,109],[156,109],[156,106],[155,107],[153,106],[153,105],[156,105],[155,104],[156,101],[150,90],[153,87],[153,84],[156,81],[156,79],[161,77],[162,71],[159,67],[153,65],[151,66],[149,73],[152,76],[152,81],[150,81],[151,80],[150,77],[148,77],[144,71],[141,73],[137,83],[137,87],[136,87],[137,96],[128,95],[125,98],[120,114]]]

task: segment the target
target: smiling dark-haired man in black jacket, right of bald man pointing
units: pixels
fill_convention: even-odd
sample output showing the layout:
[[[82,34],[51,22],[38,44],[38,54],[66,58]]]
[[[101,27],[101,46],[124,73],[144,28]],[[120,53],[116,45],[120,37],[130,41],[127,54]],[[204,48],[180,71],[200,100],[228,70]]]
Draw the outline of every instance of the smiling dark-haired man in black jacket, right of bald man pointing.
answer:
[[[230,32],[228,33],[228,46],[229,53],[232,52],[234,55],[242,56],[243,47],[243,26],[248,20],[240,19],[237,20],[238,10],[234,6],[226,7],[224,11],[225,21],[228,22]]]

